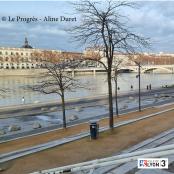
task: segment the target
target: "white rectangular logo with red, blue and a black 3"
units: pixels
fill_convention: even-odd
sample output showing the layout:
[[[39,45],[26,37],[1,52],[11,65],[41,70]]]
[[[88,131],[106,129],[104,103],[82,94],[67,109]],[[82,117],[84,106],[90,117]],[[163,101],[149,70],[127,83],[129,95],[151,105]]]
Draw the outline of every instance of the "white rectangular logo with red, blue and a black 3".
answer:
[[[139,158],[139,169],[168,169],[168,158]]]

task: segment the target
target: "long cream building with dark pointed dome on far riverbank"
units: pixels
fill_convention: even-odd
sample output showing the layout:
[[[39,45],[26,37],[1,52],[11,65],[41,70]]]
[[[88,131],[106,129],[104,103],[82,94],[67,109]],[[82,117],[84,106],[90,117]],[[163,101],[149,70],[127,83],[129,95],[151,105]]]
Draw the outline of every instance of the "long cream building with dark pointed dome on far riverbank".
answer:
[[[54,55],[63,53],[60,50],[35,49],[29,44],[27,38],[21,48],[0,47],[0,69],[42,68],[45,64],[44,54],[46,52]],[[66,52],[66,54],[69,58],[73,58],[81,53]],[[48,58],[50,57],[48,56]]]

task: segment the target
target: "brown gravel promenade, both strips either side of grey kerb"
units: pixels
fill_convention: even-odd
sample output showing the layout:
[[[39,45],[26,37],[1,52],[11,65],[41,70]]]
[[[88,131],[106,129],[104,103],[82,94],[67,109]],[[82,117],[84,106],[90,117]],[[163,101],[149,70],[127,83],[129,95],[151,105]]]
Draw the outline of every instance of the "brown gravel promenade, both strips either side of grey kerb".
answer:
[[[141,117],[150,113],[172,108],[174,105],[161,108],[146,109],[143,112],[134,112],[115,118],[115,122],[128,120],[130,118]],[[162,117],[153,117],[130,125],[107,131],[100,134],[97,141],[90,141],[89,137],[45,150],[33,155],[28,155],[7,164],[9,170],[3,174],[11,174],[16,171],[18,174],[24,174],[40,169],[47,169],[72,163],[78,163],[96,158],[110,156],[113,153],[131,147],[140,141],[153,137],[160,132],[173,128],[173,111],[163,114]],[[108,125],[108,119],[100,121],[100,126]],[[61,137],[70,136],[88,130],[88,124],[81,124],[67,128],[67,130],[57,130],[50,133],[23,138],[16,141],[0,144],[0,149],[4,152],[14,151],[24,147],[30,147],[43,142],[48,142]],[[2,153],[2,152],[1,152]],[[22,164],[22,166],[21,166]]]

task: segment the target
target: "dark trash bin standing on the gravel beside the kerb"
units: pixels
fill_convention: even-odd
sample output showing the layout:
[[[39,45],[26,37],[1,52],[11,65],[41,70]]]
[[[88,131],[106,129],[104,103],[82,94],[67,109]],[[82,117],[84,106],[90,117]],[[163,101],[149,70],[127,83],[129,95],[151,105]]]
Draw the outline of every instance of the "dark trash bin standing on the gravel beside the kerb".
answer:
[[[90,121],[90,136],[91,139],[97,139],[99,135],[99,124],[97,123],[98,120]]]

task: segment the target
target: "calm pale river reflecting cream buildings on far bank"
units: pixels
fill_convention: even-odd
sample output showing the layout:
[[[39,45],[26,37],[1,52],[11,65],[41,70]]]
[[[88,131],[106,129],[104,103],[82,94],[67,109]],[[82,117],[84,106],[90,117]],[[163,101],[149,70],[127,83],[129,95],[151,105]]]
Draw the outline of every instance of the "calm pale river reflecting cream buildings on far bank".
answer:
[[[122,73],[118,76],[119,93],[128,92],[138,89],[138,79],[136,73]],[[66,99],[79,98],[86,96],[97,96],[107,93],[107,78],[106,74],[94,75],[77,75],[82,86],[86,88],[76,89],[75,92],[66,92]],[[22,103],[22,98],[25,98],[25,103],[45,102],[51,100],[60,100],[56,94],[44,95],[37,92],[24,90],[22,86],[36,84],[37,78],[29,76],[4,76],[0,77],[0,88],[7,88],[8,92],[1,96],[0,105],[9,106]],[[146,86],[151,84],[152,88],[161,87],[162,85],[174,84],[174,74],[141,74],[141,88],[146,89]],[[114,83],[113,83],[114,85]],[[113,88],[114,90],[114,88]]]

